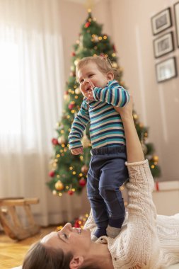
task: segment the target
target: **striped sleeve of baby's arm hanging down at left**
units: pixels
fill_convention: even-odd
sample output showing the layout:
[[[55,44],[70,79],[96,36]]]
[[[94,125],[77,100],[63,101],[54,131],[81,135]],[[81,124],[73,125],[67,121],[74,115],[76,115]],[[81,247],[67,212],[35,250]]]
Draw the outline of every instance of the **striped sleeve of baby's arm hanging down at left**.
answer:
[[[69,149],[75,149],[82,147],[81,138],[83,137],[83,131],[89,121],[88,105],[86,101],[83,101],[79,113],[74,118],[74,122],[71,125],[71,131],[69,133]]]

